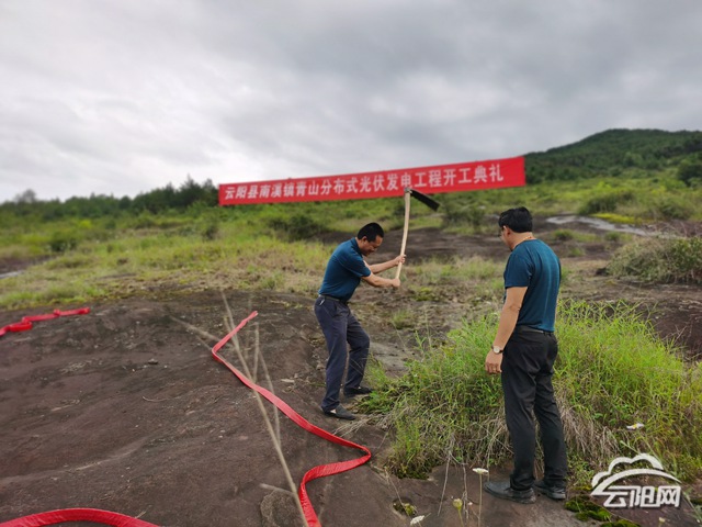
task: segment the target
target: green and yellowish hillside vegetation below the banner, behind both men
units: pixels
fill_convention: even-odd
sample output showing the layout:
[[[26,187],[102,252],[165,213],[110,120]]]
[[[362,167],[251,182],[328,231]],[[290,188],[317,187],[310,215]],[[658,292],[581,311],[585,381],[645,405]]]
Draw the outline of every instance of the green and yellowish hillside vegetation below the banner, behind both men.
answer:
[[[610,190],[612,195],[626,199],[593,209],[593,200]],[[428,208],[412,209],[412,228],[443,225],[461,234],[489,234],[495,229],[496,214],[521,203],[540,216],[590,208],[612,211],[598,214],[610,221],[644,223],[670,218],[681,211],[692,221],[702,220],[702,187],[689,189],[671,176],[657,180],[555,181],[442,194],[439,199],[443,206],[438,213]],[[680,205],[661,206],[665,203]],[[241,289],[275,285],[273,289],[310,292],[317,287],[328,256],[320,242],[325,233],[351,234],[370,221],[378,221],[388,232],[397,233],[404,221],[403,201],[397,199],[239,208],[204,206],[197,201],[184,210],[159,214],[115,212],[83,217],[61,213],[49,214],[50,220],[44,218],[45,206],[55,212],[54,203],[0,205],[0,260],[36,262],[23,274],[0,282],[2,309],[143,294],[145,288],[157,284],[172,284],[178,290],[223,284]],[[567,243],[571,234],[558,231],[554,236]],[[608,237],[614,239],[619,235]],[[577,256],[578,250],[573,248],[569,256]],[[699,238],[639,240],[624,246],[610,272],[653,281],[699,283],[700,260]],[[270,261],[282,265],[271,266]],[[437,273],[453,276],[458,283],[461,269],[475,265],[484,264],[424,264],[418,269],[421,280],[412,291],[415,300],[439,300],[432,288]],[[499,283],[480,282],[486,284],[480,296],[499,289]]]

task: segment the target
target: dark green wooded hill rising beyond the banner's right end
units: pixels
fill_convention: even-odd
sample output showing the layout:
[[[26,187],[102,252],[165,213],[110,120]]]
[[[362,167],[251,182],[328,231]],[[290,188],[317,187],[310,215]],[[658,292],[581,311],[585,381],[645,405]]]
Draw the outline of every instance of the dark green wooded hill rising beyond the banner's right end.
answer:
[[[526,154],[524,159],[530,183],[634,170],[659,172],[683,161],[702,162],[702,132],[608,130],[571,145]]]

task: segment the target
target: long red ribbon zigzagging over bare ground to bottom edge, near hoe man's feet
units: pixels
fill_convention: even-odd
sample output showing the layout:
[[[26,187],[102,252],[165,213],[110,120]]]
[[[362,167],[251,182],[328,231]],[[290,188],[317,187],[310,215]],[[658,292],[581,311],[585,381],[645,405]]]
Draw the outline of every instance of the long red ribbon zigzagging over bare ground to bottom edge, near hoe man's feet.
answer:
[[[239,329],[241,329],[251,318],[253,318],[257,315],[258,313],[256,311],[252,312],[248,317],[241,321],[241,323],[239,323],[239,325],[235,327],[226,337],[219,340],[214,348],[212,348],[212,356],[214,357],[214,359],[218,362],[222,362],[224,366],[226,366],[248,388],[257,391],[262,396],[268,399],[271,403],[273,403],[281,412],[283,412],[287,417],[290,417],[297,426],[328,441],[336,442],[337,445],[341,445],[343,447],[356,448],[365,452],[365,455],[361,458],[351,459],[349,461],[341,461],[338,463],[320,464],[320,466],[314,467],[309,469],[303,476],[303,481],[299,484],[299,490],[297,492],[297,495],[299,497],[299,503],[302,504],[302,507],[303,507],[303,513],[305,514],[305,519],[307,520],[307,525],[309,527],[321,527],[321,524],[317,518],[317,514],[315,513],[315,508],[312,506],[312,503],[309,502],[309,496],[307,495],[307,489],[305,485],[308,482],[316,480],[317,478],[325,478],[327,475],[338,474],[340,472],[346,472],[348,470],[355,469],[356,467],[362,466],[369,459],[371,459],[371,451],[361,445],[356,445],[355,442],[349,441],[339,436],[335,436],[333,434],[330,434],[329,431],[313,425],[312,423],[306,421],[304,417],[302,417],[297,412],[295,412],[292,407],[290,407],[287,403],[285,403],[285,401],[278,397],[276,395],[265,390],[264,388],[261,388],[258,384],[254,384],[253,382],[251,382],[239,370],[237,370],[234,366],[227,362],[226,359],[217,355],[219,349],[222,349],[222,347],[225,344],[227,344],[231,339],[231,337],[234,337],[237,333],[239,333]],[[0,527],[2,526],[0,525]]]

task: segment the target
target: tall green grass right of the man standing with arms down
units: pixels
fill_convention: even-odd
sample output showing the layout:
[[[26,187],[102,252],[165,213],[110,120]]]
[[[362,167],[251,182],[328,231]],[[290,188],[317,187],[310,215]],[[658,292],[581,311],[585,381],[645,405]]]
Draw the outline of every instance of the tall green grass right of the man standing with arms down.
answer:
[[[554,384],[579,466],[653,453],[683,478],[702,472],[702,365],[687,363],[635,306],[568,302]],[[627,426],[642,423],[639,430]]]

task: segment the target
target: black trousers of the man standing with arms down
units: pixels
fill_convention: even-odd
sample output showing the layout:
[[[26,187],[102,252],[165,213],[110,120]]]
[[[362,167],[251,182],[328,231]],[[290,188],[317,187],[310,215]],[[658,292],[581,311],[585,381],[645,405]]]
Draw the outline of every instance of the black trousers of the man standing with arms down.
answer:
[[[534,483],[535,415],[544,452],[544,481],[565,486],[568,462],[561,412],[552,384],[553,365],[558,355],[556,336],[514,333],[503,354],[505,416],[514,451],[510,484],[514,490],[528,490]]]

